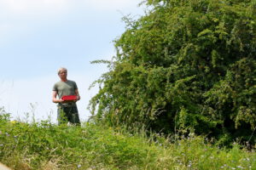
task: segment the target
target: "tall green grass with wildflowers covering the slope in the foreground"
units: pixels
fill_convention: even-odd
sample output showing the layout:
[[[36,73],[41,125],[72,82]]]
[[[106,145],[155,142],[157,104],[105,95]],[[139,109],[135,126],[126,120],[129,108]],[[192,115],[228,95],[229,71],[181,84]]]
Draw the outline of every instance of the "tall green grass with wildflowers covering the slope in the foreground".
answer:
[[[13,169],[256,169],[254,151],[219,149],[191,134],[170,142],[94,123],[10,122],[0,116],[0,161]]]

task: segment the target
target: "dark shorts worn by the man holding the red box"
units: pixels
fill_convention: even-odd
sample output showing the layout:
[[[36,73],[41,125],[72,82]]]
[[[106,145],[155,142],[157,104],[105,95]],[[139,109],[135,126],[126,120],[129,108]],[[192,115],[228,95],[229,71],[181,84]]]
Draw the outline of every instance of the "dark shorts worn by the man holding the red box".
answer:
[[[76,105],[74,106],[58,106],[58,124],[71,122],[80,124],[79,111]]]

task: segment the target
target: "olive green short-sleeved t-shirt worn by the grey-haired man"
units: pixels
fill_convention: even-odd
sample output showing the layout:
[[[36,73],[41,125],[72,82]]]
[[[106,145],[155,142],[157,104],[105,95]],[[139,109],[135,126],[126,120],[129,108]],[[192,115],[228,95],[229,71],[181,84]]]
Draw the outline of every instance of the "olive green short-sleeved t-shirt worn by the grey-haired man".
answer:
[[[67,82],[56,82],[53,91],[56,91],[59,99],[66,95],[76,95],[75,90],[78,89],[76,82],[67,80]]]

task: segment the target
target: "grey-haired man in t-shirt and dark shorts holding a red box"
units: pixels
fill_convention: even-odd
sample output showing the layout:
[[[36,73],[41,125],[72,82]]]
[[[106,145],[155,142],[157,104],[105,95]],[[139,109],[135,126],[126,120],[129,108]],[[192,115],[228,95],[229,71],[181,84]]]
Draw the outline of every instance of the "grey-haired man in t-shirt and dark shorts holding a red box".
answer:
[[[56,82],[53,87],[52,101],[58,104],[58,124],[71,122],[80,124],[79,111],[76,102],[80,99],[79,89],[76,82],[67,80],[67,69],[60,68],[58,75],[61,78],[60,82]],[[57,99],[56,97],[59,97]],[[64,101],[62,96],[76,95],[77,99],[73,101]]]

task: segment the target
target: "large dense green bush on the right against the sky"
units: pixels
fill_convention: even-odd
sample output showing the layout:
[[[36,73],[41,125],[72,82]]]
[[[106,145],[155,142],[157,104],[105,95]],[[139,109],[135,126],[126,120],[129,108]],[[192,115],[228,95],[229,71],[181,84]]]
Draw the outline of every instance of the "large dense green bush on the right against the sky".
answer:
[[[140,19],[124,18],[117,54],[90,101],[95,120],[253,143],[256,1],[146,4]]]

